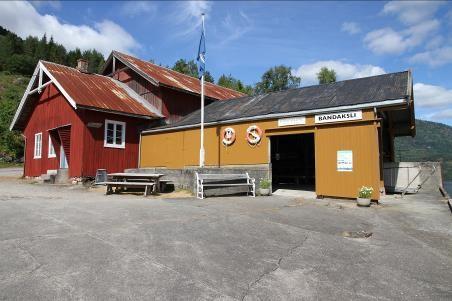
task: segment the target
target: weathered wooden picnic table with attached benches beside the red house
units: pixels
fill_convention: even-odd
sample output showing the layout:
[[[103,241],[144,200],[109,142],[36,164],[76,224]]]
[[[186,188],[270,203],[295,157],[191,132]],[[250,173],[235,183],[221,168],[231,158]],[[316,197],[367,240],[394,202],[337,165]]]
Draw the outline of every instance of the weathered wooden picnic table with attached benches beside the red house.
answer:
[[[163,174],[151,173],[133,173],[133,172],[118,172],[107,175],[108,180],[97,183],[99,185],[106,185],[107,191],[105,194],[121,191],[123,188],[142,188],[144,187],[144,195],[147,196],[151,192],[157,193],[160,191],[160,178]],[[119,190],[118,190],[119,189]]]

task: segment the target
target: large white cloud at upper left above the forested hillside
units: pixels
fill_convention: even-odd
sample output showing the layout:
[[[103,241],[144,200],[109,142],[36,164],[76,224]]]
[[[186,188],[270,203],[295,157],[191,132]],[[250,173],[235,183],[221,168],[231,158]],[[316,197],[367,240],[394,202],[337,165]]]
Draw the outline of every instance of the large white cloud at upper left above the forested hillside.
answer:
[[[25,1],[0,1],[0,25],[22,38],[47,34],[70,50],[95,48],[105,56],[113,49],[133,52],[140,48],[127,31],[112,21],[103,20],[93,26],[64,23],[53,15],[39,14]]]

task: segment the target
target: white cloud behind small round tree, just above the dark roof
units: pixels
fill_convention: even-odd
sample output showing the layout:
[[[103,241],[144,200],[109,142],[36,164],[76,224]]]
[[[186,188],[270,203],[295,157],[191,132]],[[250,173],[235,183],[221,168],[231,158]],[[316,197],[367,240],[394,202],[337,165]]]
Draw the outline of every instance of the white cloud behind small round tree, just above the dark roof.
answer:
[[[301,83],[306,85],[313,85],[318,83],[317,73],[322,67],[334,69],[336,71],[338,80],[345,80],[351,78],[359,78],[366,76],[373,76],[386,73],[381,67],[374,65],[359,65],[348,64],[342,61],[317,61],[312,64],[306,64],[298,67],[293,71],[294,75],[301,77]]]

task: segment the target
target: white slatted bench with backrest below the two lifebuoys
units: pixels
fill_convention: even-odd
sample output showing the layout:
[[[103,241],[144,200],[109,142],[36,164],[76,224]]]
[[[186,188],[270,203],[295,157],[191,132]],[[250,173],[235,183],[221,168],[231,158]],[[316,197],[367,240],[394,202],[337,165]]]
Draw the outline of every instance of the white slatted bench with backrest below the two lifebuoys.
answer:
[[[230,183],[228,183],[230,182]],[[247,186],[247,195],[256,196],[256,180],[249,174],[200,174],[196,172],[196,197],[204,198],[204,187],[240,187]]]

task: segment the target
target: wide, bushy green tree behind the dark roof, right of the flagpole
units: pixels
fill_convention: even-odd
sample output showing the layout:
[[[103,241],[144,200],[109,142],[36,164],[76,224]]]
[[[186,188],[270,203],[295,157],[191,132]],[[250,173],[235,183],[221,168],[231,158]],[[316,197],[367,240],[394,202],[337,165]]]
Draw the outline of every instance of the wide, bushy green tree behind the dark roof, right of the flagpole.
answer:
[[[256,84],[256,93],[269,93],[291,88],[298,88],[301,78],[291,72],[291,68],[280,65],[267,70]]]

